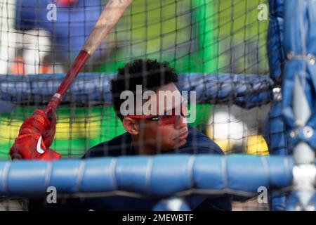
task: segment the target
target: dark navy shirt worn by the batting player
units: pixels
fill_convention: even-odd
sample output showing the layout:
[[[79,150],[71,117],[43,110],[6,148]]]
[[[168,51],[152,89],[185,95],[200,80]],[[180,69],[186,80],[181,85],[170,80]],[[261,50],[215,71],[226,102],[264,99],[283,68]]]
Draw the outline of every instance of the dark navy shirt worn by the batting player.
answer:
[[[223,150],[221,150],[214,141],[209,139],[208,136],[190,126],[185,145],[162,154],[175,153],[224,154]],[[136,155],[132,146],[131,134],[129,133],[121,134],[110,141],[94,146],[86,152],[83,158],[117,157],[121,155]],[[69,199],[64,203],[47,206],[50,210],[152,210],[152,207],[154,207],[158,201],[157,199],[113,196],[107,198]],[[185,202],[189,205],[191,210],[232,210],[230,195],[221,195],[211,198],[206,195],[188,195],[185,197]],[[37,205],[39,208],[36,207]],[[43,207],[31,201],[29,210],[43,210]]]

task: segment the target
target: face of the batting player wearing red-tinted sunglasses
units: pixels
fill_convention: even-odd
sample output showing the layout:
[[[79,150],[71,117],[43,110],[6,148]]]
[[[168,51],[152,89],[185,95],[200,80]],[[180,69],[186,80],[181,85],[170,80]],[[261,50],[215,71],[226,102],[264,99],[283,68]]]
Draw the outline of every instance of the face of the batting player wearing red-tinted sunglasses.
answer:
[[[150,110],[152,115],[161,115],[160,113],[176,113],[176,117],[171,117],[173,123],[169,124],[164,121],[138,120],[139,134],[138,141],[144,141],[145,146],[160,151],[173,150],[185,145],[188,134],[187,120],[180,113],[181,103],[184,99],[175,84],[166,84],[156,92],[156,97],[150,99],[152,105],[156,105],[156,111]],[[182,107],[182,109],[184,109]],[[160,113],[159,113],[160,112]]]

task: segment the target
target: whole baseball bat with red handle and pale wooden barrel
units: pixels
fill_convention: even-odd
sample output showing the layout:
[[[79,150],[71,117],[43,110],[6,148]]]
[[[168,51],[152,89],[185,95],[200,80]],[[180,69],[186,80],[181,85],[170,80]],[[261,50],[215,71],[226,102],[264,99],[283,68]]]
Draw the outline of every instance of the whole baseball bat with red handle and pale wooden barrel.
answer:
[[[48,114],[50,111],[54,112],[58,107],[62,97],[65,95],[67,90],[74,79],[79,74],[80,70],[83,68],[84,64],[93,55],[101,42],[107,37],[110,30],[114,25],[117,24],[121,15],[123,15],[126,8],[131,4],[133,0],[109,0],[103,9],[96,25],[93,27],[91,34],[84,43],[81,51],[79,52],[76,60],[72,63],[70,70],[67,72],[66,77],[62,80],[57,91],[49,101],[45,112]]]

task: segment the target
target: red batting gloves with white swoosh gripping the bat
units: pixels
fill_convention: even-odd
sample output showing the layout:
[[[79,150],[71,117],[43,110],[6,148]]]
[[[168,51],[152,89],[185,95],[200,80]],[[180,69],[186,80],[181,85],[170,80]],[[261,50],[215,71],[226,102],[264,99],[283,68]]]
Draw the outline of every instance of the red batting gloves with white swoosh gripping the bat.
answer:
[[[53,143],[55,127],[54,113],[47,115],[43,110],[36,110],[20,127],[19,136],[10,149],[11,158],[47,161],[60,159],[62,155],[49,148]]]

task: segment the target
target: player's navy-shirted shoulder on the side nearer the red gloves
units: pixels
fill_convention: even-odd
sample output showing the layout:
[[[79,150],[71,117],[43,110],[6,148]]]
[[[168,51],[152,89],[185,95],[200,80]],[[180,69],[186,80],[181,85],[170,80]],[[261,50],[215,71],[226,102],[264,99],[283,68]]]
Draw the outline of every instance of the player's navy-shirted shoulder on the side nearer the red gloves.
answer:
[[[124,133],[90,148],[82,158],[131,155],[131,134]]]

